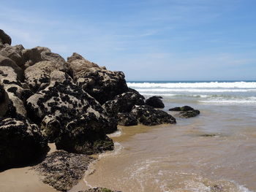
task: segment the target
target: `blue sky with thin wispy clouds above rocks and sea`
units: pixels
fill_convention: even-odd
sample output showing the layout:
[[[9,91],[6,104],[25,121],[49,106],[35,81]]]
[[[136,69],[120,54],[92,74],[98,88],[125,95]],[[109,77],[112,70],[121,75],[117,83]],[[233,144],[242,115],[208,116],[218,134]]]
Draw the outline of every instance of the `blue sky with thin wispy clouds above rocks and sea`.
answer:
[[[255,0],[0,0],[12,45],[49,47],[127,80],[256,80]]]

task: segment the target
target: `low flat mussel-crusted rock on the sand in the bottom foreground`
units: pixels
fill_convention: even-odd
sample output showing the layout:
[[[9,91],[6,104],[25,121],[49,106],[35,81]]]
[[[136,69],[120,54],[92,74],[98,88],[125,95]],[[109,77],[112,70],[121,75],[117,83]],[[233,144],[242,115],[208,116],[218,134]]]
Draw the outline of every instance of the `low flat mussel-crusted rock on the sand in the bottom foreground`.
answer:
[[[91,161],[94,161],[94,158],[87,155],[60,150],[50,153],[34,169],[42,174],[44,183],[53,186],[58,191],[68,191],[78,183],[78,180],[82,179]]]

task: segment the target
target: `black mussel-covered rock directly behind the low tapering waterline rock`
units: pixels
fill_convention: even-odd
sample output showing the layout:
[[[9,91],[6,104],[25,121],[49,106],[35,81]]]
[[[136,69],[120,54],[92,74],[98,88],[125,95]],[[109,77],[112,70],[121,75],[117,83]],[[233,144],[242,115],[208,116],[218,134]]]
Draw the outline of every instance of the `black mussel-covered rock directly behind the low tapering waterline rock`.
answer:
[[[115,96],[113,100],[105,102],[102,107],[109,115],[116,117],[118,112],[131,112],[132,107],[143,104],[143,96],[140,93],[126,92]]]

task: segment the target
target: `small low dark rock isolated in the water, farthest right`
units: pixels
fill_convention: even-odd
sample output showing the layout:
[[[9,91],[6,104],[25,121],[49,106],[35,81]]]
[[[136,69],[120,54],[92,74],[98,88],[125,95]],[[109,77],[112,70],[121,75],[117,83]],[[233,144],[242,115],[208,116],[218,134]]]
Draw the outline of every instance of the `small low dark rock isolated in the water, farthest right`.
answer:
[[[174,107],[171,108],[169,111],[176,111],[176,117],[178,118],[193,118],[200,114],[199,110],[194,110],[192,107],[184,106],[184,107]]]

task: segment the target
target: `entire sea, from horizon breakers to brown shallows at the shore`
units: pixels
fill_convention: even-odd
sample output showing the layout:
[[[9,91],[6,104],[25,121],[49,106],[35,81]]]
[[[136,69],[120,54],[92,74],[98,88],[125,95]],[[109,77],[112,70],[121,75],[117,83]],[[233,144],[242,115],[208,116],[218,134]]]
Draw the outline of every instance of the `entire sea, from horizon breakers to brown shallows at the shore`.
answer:
[[[176,125],[118,127],[75,189],[123,192],[256,191],[256,81],[127,82],[146,98],[200,110]],[[213,137],[202,137],[211,134]],[[96,170],[94,172],[94,170]]]

